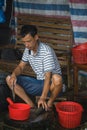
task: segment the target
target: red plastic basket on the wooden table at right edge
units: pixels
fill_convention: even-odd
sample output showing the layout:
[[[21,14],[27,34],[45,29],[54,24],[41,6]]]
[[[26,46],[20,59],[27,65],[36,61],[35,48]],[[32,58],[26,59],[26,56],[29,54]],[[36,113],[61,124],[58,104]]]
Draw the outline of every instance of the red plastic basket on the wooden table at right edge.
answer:
[[[87,64],[87,42],[72,48],[73,62]]]

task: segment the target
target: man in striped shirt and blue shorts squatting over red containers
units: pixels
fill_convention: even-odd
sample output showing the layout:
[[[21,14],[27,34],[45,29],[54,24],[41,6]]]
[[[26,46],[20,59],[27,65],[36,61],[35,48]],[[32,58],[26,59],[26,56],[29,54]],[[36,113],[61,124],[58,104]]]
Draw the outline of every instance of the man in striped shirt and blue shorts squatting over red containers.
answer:
[[[34,107],[34,103],[27,94],[40,96],[38,107],[42,106],[49,110],[62,88],[58,59],[51,47],[39,41],[36,26],[24,25],[20,34],[25,50],[18,66],[10,76],[7,76],[7,84],[11,90],[14,84],[15,94],[31,107]],[[20,75],[28,63],[36,73],[37,79]],[[50,98],[46,102],[48,95]]]

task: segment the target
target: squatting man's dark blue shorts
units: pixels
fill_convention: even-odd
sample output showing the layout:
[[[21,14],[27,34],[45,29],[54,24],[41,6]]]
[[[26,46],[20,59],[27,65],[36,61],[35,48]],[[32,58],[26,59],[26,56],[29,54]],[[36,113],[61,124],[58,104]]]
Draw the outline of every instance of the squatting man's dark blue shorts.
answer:
[[[42,94],[44,80],[37,80],[33,77],[18,76],[17,84],[19,84],[27,94],[32,96],[40,96]]]

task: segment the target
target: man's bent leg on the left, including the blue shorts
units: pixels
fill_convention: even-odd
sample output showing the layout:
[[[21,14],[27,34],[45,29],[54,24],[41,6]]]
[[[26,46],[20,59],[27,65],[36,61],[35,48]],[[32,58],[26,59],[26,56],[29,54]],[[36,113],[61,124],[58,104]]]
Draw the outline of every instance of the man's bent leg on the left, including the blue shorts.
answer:
[[[9,82],[10,76],[7,76],[6,81],[9,88],[12,90],[12,86]],[[18,76],[17,83],[14,87],[15,94],[23,99],[27,104],[30,104],[31,107],[34,107],[32,100],[27,94],[36,96],[40,95],[42,92],[43,81],[38,81],[35,78],[27,76]]]

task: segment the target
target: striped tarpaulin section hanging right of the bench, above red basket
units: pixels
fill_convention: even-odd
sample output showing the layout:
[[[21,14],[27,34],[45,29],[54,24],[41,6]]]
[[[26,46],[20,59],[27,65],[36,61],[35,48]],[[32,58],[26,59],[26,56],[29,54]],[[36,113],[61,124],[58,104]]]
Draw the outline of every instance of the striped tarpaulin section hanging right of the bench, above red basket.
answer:
[[[75,44],[87,42],[87,0],[70,0],[69,7]]]

